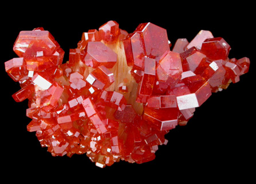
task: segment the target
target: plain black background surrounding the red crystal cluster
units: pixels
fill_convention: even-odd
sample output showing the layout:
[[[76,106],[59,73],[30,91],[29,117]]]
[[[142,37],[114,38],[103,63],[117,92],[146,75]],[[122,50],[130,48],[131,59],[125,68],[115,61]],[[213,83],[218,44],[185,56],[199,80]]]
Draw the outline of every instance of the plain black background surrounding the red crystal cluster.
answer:
[[[50,2],[40,5],[15,4],[2,7],[1,11],[1,158],[6,174],[23,173],[25,179],[36,177],[49,179],[93,177],[103,181],[108,173],[115,181],[118,175],[124,178],[156,178],[172,181],[172,177],[226,181],[246,179],[253,166],[255,123],[255,15],[253,5],[246,2],[223,5],[221,2],[206,4],[196,1],[181,5],[164,2],[114,3],[97,5],[63,2],[52,6]],[[146,7],[145,4],[150,7]],[[158,5],[158,6],[157,6]],[[12,17],[13,16],[13,17]],[[254,16],[254,17],[253,17]],[[159,146],[156,159],[138,165],[120,161],[111,167],[100,169],[86,155],[72,158],[52,157],[46,148],[41,148],[35,133],[29,133],[26,125],[27,101],[16,103],[11,94],[20,89],[5,73],[4,62],[17,57],[13,43],[19,31],[44,27],[49,30],[65,51],[77,46],[82,32],[99,29],[109,20],[119,23],[121,29],[132,33],[139,23],[152,22],[167,29],[168,38],[175,43],[178,38],[192,38],[200,30],[210,30],[214,37],[223,37],[231,46],[230,58],[248,57],[249,73],[241,81],[231,83],[227,90],[214,93],[199,108],[187,126],[176,127],[166,135],[168,145]],[[254,167],[254,166],[253,166]],[[4,173],[4,174],[5,174]],[[15,177],[14,177],[15,178]],[[204,179],[206,178],[206,179]],[[11,178],[9,178],[11,179]]]

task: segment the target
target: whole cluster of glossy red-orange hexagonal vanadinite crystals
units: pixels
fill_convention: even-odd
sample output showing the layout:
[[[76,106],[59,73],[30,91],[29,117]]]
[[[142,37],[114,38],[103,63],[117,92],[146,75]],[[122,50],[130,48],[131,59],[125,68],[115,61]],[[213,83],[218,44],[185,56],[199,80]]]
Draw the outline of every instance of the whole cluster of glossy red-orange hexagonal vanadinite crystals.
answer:
[[[144,163],[195,108],[249,71],[249,58],[229,58],[230,45],[201,30],[172,50],[167,31],[141,23],[133,33],[116,21],[82,33],[77,48],[64,51],[49,31],[21,31],[5,62],[19,82],[16,102],[26,110],[42,147],[53,156],[86,154],[96,166],[120,160]]]

